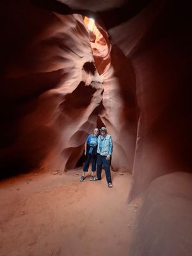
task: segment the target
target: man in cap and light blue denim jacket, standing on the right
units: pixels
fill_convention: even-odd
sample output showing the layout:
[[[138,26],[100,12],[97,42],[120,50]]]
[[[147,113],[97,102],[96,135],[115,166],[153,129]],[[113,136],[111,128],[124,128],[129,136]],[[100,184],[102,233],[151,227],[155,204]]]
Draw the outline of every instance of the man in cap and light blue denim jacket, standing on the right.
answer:
[[[106,172],[106,179],[108,182],[108,187],[112,188],[111,172],[110,172],[110,163],[111,156],[113,151],[113,141],[111,135],[107,133],[106,127],[101,127],[100,135],[98,137],[98,146],[97,146],[97,177],[94,180],[101,179],[102,165]]]

